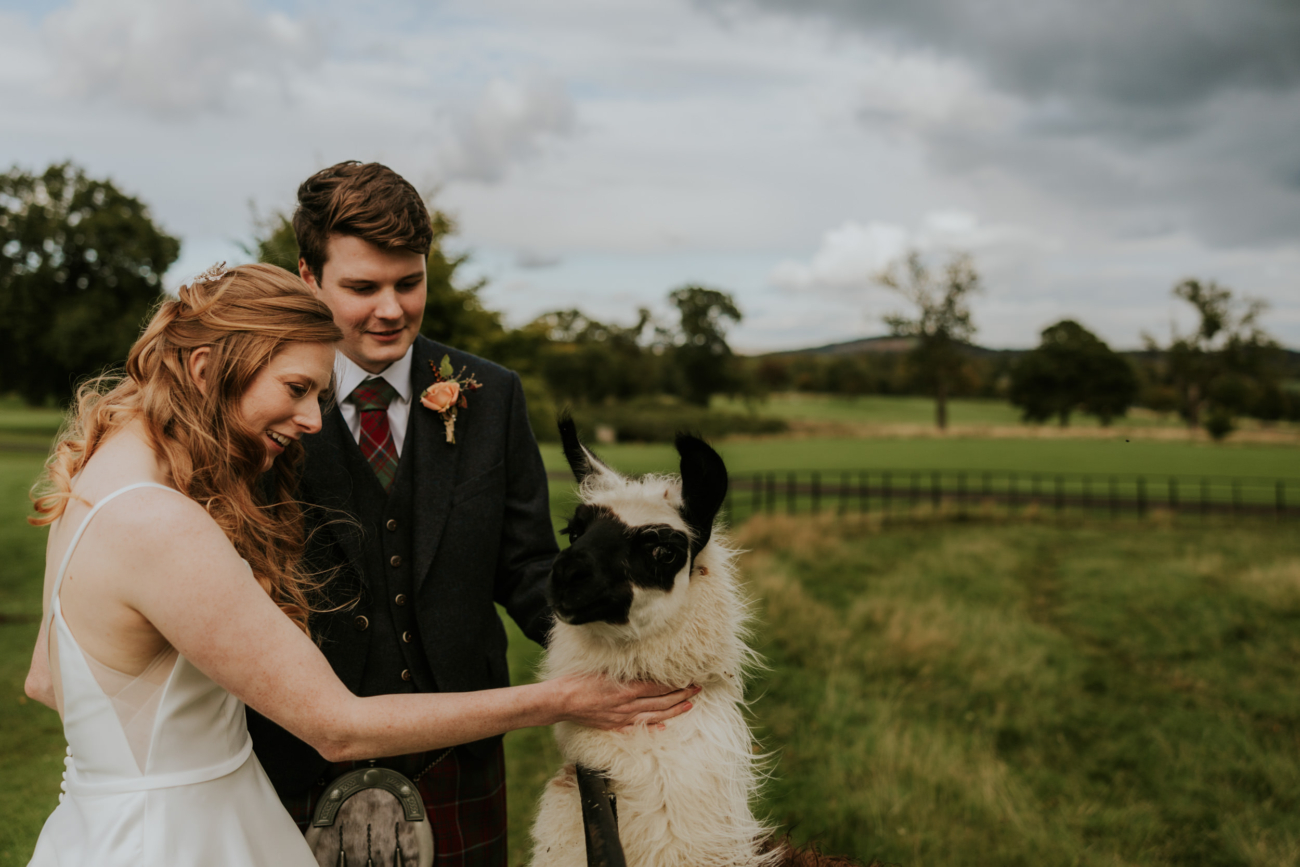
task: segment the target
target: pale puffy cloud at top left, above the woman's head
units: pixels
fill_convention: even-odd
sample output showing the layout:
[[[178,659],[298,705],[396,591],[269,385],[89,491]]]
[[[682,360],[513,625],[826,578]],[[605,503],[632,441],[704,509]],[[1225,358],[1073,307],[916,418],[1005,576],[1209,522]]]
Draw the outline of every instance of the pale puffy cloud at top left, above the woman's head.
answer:
[[[246,0],[74,0],[44,21],[55,86],[166,118],[287,94],[315,64],[315,29]]]

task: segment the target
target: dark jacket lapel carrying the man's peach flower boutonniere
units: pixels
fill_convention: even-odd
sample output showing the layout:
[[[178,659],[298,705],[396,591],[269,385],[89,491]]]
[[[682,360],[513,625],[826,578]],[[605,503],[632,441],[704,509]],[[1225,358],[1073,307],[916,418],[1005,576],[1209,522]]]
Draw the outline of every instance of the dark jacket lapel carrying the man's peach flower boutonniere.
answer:
[[[437,356],[437,357],[434,357]],[[415,357],[411,365],[411,380],[415,393],[411,395],[411,419],[407,425],[407,438],[403,451],[410,450],[415,458],[415,478],[411,491],[415,512],[413,542],[415,558],[412,575],[415,591],[420,593],[433,556],[442,541],[442,530],[451,511],[451,490],[456,480],[456,460],[460,452],[447,442],[442,416],[420,404],[420,395],[433,385],[430,361],[442,360],[442,347],[426,338],[416,338]]]

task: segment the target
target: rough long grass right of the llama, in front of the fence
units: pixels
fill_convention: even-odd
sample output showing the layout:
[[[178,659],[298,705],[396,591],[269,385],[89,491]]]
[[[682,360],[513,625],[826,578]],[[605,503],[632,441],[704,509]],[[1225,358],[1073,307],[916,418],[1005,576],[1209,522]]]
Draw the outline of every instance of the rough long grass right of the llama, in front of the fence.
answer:
[[[766,807],[796,837],[914,866],[1300,863],[1292,530],[742,541]]]

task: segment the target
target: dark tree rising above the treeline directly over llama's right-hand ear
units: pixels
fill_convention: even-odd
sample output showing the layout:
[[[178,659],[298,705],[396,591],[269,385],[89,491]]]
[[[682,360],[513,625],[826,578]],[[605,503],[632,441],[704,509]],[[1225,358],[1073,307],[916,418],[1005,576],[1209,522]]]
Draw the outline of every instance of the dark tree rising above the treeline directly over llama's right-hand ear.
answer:
[[[741,312],[727,292],[706,286],[682,286],[668,294],[680,324],[671,343],[675,386],[686,403],[707,407],[719,393],[734,391],[740,380],[727,346],[728,322],[740,322]]]

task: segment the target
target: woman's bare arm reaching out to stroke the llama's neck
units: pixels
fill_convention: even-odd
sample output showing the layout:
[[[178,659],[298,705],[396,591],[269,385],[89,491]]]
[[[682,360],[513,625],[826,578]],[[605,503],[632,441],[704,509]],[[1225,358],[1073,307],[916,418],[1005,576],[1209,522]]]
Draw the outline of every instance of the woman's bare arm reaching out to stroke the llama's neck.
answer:
[[[109,517],[108,515],[101,516]],[[212,519],[165,491],[116,511],[105,554],[124,601],[200,671],[326,759],[396,755],[572,720],[655,724],[689,710],[690,689],[572,677],[474,693],[358,698],[261,590]]]

